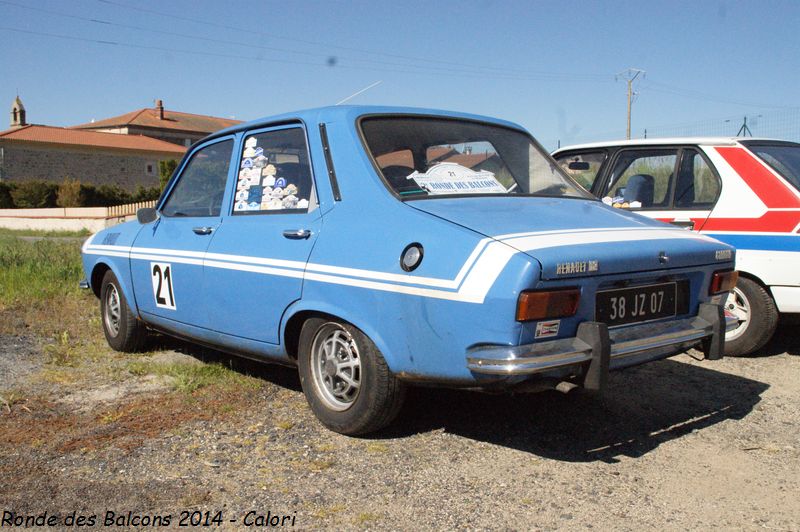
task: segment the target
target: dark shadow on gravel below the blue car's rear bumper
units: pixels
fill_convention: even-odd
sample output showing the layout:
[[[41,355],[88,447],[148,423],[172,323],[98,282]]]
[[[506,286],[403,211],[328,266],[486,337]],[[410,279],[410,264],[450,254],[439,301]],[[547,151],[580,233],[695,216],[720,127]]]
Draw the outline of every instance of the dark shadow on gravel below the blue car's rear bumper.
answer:
[[[604,396],[487,395],[415,389],[381,437],[442,429],[473,440],[568,462],[640,457],[664,442],[729,419],[741,419],[767,384],[674,360],[611,375]]]

